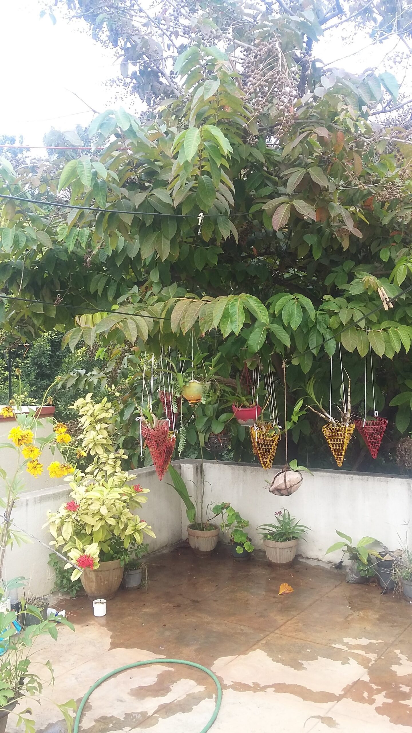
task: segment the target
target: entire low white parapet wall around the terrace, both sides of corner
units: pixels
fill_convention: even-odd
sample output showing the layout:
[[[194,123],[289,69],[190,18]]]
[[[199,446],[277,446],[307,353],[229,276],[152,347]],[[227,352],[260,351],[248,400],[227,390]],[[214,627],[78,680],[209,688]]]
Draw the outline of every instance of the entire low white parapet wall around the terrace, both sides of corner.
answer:
[[[188,485],[189,494],[196,498],[196,486],[200,486],[199,461],[177,461],[174,466]],[[375,537],[392,549],[400,546],[398,534],[402,541],[405,539],[405,523],[412,520],[411,479],[348,471],[313,471],[312,476],[304,474],[304,482],[293,496],[282,498],[269,493],[265,483],[275,470],[205,461],[204,506],[213,507],[221,501],[229,501],[249,520],[250,536],[257,548],[262,548],[257,526],[273,523],[274,512],[285,507],[311,528],[306,542],[300,542],[298,553],[317,560],[340,559],[340,552],[325,557],[325,550],[339,539],[335,529],[350,535],[355,542],[364,535]],[[152,467],[133,473],[136,482],[150,489],[147,504],[140,512],[156,534],[155,539],[147,540],[150,551],[172,547],[185,539],[188,524],[185,507],[169,486],[168,474],[160,482]],[[67,485],[59,485],[25,494],[15,507],[15,523],[48,544],[50,537],[47,528],[43,528],[47,511],[56,510],[67,501],[68,492]],[[31,579],[33,594],[47,593],[52,581],[47,561],[48,548],[38,543],[15,547],[7,555],[7,577],[23,575]]]

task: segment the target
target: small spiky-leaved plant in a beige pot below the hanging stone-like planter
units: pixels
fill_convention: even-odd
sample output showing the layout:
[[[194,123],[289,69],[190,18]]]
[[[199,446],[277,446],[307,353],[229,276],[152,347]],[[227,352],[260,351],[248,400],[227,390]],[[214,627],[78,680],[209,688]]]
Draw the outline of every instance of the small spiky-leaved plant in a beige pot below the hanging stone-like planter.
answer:
[[[279,567],[290,567],[298,550],[298,540],[304,538],[309,527],[291,517],[287,509],[275,512],[275,520],[276,524],[258,527],[266,557]]]

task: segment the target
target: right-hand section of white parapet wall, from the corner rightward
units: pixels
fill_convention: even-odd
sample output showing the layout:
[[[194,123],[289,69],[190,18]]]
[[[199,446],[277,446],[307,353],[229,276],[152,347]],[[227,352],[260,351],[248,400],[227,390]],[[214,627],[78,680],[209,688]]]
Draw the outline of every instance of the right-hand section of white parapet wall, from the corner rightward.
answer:
[[[181,468],[186,482],[191,479],[200,485],[199,462],[183,461]],[[304,473],[304,481],[293,496],[282,497],[269,493],[266,484],[276,470],[279,469],[265,471],[254,465],[205,461],[204,505],[213,507],[229,501],[249,520],[249,534],[257,548],[262,548],[257,526],[274,523],[274,512],[288,509],[311,528],[306,541],[299,543],[298,553],[317,560],[338,561],[342,556],[339,551],[325,557],[325,550],[339,540],[336,529],[355,542],[369,535],[392,549],[405,541],[405,523],[412,520],[411,479],[314,470],[313,475]],[[185,519],[183,511],[184,530]],[[412,541],[411,531],[409,535]]]

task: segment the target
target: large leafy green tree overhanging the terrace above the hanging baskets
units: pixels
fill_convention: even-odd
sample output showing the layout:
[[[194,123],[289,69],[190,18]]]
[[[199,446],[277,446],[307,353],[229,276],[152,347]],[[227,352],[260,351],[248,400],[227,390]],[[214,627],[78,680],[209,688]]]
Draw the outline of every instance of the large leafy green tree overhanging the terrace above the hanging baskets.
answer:
[[[84,339],[154,353],[187,353],[193,334],[219,355],[225,379],[245,361],[282,377],[285,358],[291,408],[312,377],[317,398],[328,399],[338,344],[362,414],[371,349],[376,408],[405,432],[412,300],[401,295],[386,312],[378,288],[391,298],[410,284],[412,144],[372,125],[382,105],[396,105],[396,79],[314,61],[332,4],[249,19],[235,4],[214,15],[215,5],[196,5],[186,34],[171,24],[169,45],[166,15],[132,39],[138,4],[108,3],[100,20],[95,5],[69,3],[99,37],[129,49],[139,73],[150,56],[171,84],[144,121],[123,108],[99,114],[92,153],[54,155],[37,180],[1,164],[0,194],[43,202],[2,199],[0,284],[32,301],[4,303],[4,330],[33,339],[57,328],[72,350]],[[379,8],[358,14],[373,10],[376,32]],[[337,353],[334,364],[336,403]],[[311,420],[295,424],[296,443]]]

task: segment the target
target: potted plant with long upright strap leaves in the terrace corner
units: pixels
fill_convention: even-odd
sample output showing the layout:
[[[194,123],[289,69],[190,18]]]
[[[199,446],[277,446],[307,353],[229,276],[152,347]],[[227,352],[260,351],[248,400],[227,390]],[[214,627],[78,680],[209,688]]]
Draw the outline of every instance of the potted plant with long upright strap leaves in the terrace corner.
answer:
[[[203,481],[203,467],[201,467]],[[174,466],[169,465],[169,474],[172,479],[172,486],[183,500],[186,507],[188,524],[188,541],[195,555],[205,557],[210,555],[218,544],[219,528],[210,522],[209,518],[203,517],[202,501],[200,501],[200,517],[196,517],[196,506],[191,500],[188,488],[182,476],[177,473]],[[207,514],[207,512],[206,512]]]

